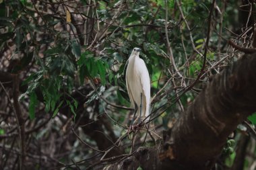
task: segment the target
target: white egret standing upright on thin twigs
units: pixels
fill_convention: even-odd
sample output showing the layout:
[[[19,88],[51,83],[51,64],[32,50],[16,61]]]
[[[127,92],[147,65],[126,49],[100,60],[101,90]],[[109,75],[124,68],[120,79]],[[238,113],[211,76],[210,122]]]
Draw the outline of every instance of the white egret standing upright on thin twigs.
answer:
[[[150,75],[145,62],[139,58],[139,48],[133,48],[126,69],[126,86],[131,106],[137,105],[136,115],[143,118],[150,114]],[[148,118],[149,119],[149,118]]]

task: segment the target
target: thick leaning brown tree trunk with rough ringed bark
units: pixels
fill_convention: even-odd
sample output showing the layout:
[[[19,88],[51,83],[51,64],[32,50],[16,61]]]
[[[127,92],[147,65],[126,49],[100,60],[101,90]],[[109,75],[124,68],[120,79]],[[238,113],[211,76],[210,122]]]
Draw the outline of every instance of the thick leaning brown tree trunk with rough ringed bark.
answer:
[[[211,169],[228,135],[256,111],[255,87],[256,54],[247,54],[216,75],[189,105],[165,137],[160,154],[152,153],[158,161],[139,165],[143,169]],[[127,159],[108,168],[138,167],[136,161],[124,166]]]

